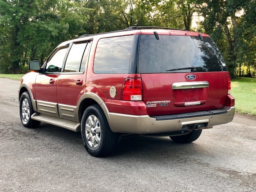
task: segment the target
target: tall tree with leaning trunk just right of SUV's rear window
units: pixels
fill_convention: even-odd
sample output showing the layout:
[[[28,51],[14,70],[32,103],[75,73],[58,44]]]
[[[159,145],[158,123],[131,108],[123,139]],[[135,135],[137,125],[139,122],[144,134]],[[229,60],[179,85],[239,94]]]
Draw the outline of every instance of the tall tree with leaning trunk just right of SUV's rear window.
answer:
[[[202,26],[210,34],[224,55],[230,74],[234,71],[238,60],[238,41],[240,41],[240,16],[248,0],[202,0],[198,1],[198,11],[204,16]]]

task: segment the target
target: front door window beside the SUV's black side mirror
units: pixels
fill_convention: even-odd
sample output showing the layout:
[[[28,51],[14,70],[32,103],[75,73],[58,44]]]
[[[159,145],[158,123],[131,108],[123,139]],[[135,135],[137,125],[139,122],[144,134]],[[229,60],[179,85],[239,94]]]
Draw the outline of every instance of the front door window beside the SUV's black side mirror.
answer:
[[[47,60],[45,72],[60,72],[68,48],[60,47],[53,52]]]

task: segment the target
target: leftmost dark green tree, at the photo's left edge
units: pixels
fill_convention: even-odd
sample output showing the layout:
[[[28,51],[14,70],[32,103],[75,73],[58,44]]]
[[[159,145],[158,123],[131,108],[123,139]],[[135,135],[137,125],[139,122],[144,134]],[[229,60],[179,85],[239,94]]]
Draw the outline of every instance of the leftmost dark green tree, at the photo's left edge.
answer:
[[[23,55],[23,47],[18,41],[21,28],[27,24],[29,10],[34,6],[33,0],[0,0],[0,43],[4,50],[0,52],[3,72],[18,73]]]

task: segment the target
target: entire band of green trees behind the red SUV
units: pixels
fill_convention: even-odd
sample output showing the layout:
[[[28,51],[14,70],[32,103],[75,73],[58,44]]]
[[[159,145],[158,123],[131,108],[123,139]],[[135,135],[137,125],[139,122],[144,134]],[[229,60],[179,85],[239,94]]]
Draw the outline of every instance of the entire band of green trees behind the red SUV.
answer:
[[[29,60],[44,62],[65,40],[130,26],[210,34],[232,76],[256,76],[255,0],[0,0],[0,73],[24,72]]]

